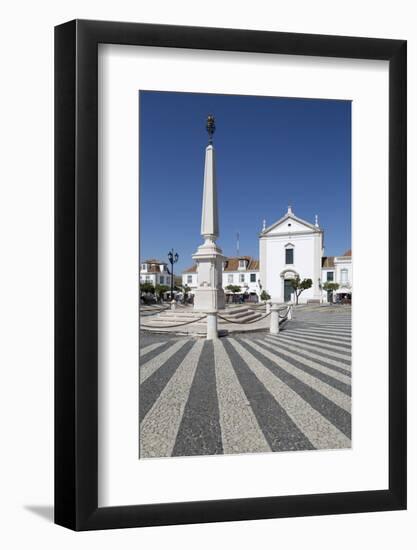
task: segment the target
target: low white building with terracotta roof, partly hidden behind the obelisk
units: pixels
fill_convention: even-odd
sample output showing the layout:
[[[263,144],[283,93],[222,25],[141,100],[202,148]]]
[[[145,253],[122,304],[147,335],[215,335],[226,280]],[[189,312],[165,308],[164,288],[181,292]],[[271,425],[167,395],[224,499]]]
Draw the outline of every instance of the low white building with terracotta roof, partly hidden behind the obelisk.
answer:
[[[182,284],[187,285],[191,291],[197,288],[196,265],[183,271]],[[251,256],[225,258],[222,266],[222,286],[227,289],[229,285],[240,286],[242,294],[259,296],[259,261]]]

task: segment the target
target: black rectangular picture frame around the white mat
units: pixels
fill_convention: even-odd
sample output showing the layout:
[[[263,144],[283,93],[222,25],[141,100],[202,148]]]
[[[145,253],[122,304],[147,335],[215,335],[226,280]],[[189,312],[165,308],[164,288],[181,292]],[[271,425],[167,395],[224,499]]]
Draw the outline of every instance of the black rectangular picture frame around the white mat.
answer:
[[[98,44],[389,62],[389,488],[98,507]],[[406,508],[406,41],[74,20],[55,28],[55,522],[74,530]],[[395,279],[395,294],[394,281]]]

